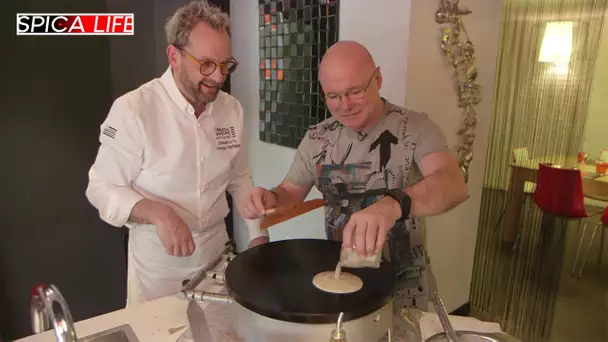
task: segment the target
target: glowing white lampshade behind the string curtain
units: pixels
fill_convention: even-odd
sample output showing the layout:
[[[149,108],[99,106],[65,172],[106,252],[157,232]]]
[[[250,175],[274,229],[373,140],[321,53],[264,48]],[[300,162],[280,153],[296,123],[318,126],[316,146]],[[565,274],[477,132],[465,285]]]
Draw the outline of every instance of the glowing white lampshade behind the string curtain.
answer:
[[[539,62],[568,65],[572,53],[572,22],[548,22],[540,48]]]

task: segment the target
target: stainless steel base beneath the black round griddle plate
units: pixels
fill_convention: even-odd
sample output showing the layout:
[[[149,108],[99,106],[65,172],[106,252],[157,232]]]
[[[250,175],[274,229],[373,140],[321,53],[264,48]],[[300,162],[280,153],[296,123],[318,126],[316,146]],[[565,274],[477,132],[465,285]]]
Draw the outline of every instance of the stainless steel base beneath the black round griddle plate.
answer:
[[[230,305],[233,329],[246,342],[329,341],[336,324],[302,324],[257,314],[234,302]],[[379,310],[343,324],[348,342],[378,341],[393,324],[393,301]]]

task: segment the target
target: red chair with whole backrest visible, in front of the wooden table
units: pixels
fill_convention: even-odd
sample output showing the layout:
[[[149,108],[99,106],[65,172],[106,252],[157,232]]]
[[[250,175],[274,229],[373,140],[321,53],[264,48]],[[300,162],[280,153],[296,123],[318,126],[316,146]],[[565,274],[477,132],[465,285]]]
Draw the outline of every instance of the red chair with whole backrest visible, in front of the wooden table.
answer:
[[[587,229],[587,218],[601,213],[601,211],[588,212],[585,208],[581,171],[540,164],[534,202],[545,214],[565,220],[579,220],[579,225],[584,223],[572,266],[574,275]],[[578,278],[581,274],[582,267],[579,270]]]

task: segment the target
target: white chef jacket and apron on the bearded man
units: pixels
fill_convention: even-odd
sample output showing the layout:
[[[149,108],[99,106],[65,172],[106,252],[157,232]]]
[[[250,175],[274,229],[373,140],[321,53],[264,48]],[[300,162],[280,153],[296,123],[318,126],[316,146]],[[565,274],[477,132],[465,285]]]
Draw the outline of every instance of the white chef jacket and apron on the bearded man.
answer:
[[[243,134],[238,100],[220,91],[197,119],[170,68],[114,102],[101,125],[86,195],[104,221],[131,228],[128,305],[179,291],[224,246],[225,191],[236,203],[253,187]],[[142,198],[181,216],[194,237],[193,255],[166,254],[153,225],[128,221]],[[259,221],[246,223],[252,239],[265,235]]]

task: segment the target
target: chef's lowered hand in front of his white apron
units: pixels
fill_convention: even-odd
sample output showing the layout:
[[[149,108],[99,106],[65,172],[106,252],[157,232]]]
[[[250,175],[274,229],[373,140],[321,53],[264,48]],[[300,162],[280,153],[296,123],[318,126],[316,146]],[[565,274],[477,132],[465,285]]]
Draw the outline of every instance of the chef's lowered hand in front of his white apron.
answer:
[[[195,250],[192,232],[184,220],[166,204],[159,203],[151,222],[169,255],[186,257]]]

